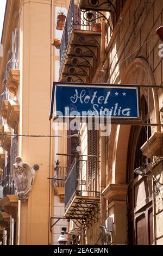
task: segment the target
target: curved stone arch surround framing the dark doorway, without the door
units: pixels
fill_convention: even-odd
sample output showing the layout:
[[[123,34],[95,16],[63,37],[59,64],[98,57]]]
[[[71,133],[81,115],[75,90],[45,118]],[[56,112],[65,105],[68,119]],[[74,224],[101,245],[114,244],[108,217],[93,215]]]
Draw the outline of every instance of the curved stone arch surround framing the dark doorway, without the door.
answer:
[[[147,60],[135,58],[124,73],[121,84],[155,84],[154,75]],[[149,118],[151,123],[160,123],[158,94],[155,88],[150,90]],[[141,95],[147,99],[148,89],[141,89]],[[126,184],[126,166],[128,140],[130,125],[117,125],[111,129],[109,159],[108,159],[108,181],[110,183]],[[153,127],[152,132],[160,131],[160,127]],[[110,174],[110,175],[109,175]]]

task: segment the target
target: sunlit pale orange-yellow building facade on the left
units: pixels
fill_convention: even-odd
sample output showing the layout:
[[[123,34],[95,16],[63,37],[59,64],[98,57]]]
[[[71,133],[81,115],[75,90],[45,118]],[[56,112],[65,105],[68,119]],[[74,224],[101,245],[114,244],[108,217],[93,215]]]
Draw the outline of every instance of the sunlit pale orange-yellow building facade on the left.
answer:
[[[58,76],[59,50],[54,50],[52,40],[61,36],[55,29],[55,21],[58,11],[68,4],[51,0],[7,1],[1,41],[4,52],[0,60],[1,133],[12,136],[1,137],[4,244],[53,243],[50,219],[54,190],[48,178],[54,172],[54,139],[49,136],[53,131],[48,117],[52,82]],[[15,156],[21,156],[33,170],[35,164],[39,166],[34,170],[32,191],[25,202],[19,200],[12,184]]]

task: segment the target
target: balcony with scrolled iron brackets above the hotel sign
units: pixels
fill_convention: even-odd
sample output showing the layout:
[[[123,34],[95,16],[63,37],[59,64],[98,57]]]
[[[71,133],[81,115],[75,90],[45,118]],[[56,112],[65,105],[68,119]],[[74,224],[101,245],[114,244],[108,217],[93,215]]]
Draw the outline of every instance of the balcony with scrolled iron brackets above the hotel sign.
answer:
[[[102,15],[81,11],[71,0],[60,45],[59,81],[91,82],[100,58],[101,20]]]

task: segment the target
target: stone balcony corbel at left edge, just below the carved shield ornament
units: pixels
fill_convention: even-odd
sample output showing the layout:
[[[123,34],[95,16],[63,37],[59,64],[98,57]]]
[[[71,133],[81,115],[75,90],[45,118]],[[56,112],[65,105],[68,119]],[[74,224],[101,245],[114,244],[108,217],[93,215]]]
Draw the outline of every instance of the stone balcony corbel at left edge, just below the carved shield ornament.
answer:
[[[7,212],[12,218],[17,218],[18,199],[14,194],[7,195],[0,200],[3,211]]]

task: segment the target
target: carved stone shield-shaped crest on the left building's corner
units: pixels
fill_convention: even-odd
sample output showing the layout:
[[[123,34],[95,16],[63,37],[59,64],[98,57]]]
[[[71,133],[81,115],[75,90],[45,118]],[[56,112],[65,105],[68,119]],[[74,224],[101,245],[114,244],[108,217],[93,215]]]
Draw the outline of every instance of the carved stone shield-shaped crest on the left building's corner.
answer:
[[[29,163],[23,162],[21,156],[15,158],[16,163],[13,164],[13,178],[17,191],[17,197],[22,202],[25,202],[29,193],[32,190],[35,170]]]

